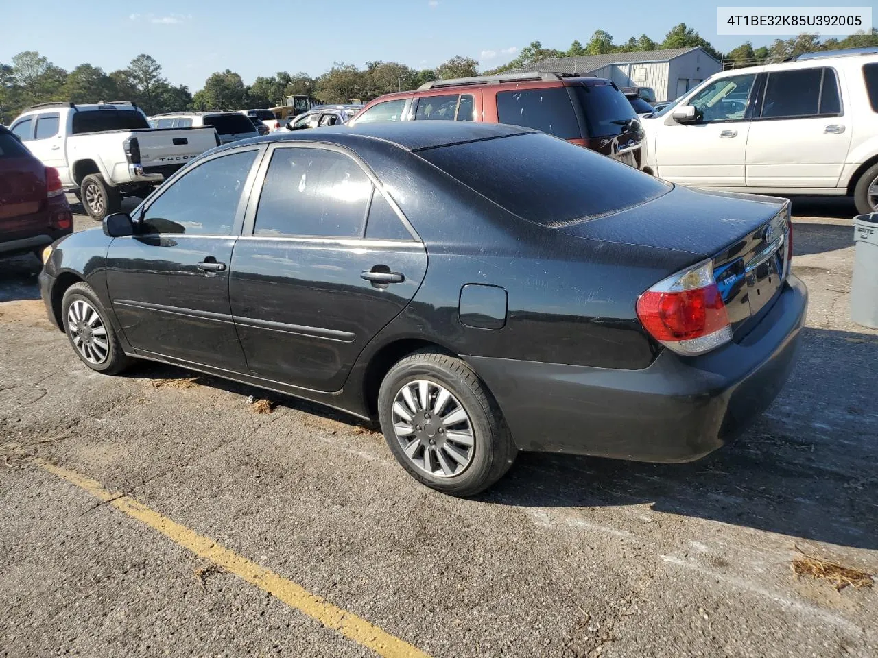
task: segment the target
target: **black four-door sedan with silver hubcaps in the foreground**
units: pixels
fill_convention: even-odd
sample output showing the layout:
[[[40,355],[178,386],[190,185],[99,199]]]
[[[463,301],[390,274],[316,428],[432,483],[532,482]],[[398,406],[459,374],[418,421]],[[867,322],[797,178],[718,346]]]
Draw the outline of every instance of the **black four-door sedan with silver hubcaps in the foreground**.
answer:
[[[691,461],[793,367],[786,202],[673,187],[549,135],[450,121],[281,133],[55,243],[83,363],[164,361],[378,418],[460,496],[519,450]]]

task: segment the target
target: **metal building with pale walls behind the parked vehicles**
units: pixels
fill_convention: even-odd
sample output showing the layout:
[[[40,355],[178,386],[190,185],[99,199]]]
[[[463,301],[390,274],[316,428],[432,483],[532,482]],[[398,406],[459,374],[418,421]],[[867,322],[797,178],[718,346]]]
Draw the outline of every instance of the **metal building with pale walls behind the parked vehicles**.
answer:
[[[680,97],[722,68],[702,46],[637,53],[551,57],[515,71],[581,73],[612,80],[620,87],[651,87],[656,101]]]

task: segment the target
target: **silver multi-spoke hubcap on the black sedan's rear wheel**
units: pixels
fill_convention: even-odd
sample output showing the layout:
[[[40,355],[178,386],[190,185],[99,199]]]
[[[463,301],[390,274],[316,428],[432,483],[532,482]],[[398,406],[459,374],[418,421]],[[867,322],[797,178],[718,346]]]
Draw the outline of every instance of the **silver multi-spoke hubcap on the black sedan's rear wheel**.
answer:
[[[464,472],[475,454],[475,437],[464,406],[441,384],[405,384],[393,399],[393,431],[415,468],[434,477]]]

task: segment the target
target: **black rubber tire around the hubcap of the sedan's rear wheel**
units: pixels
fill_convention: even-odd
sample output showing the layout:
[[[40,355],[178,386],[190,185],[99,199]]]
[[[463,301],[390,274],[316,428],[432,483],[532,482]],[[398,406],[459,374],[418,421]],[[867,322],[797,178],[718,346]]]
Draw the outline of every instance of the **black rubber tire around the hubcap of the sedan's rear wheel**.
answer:
[[[393,403],[407,383],[416,381],[444,387],[468,416],[473,446],[470,461],[459,475],[442,477],[428,474],[414,464],[414,459],[407,457],[397,438]],[[431,405],[427,404],[428,407]],[[487,390],[472,368],[450,354],[422,350],[398,361],[385,375],[378,391],[378,419],[387,445],[402,467],[419,482],[451,496],[474,496],[486,490],[504,476],[515,461],[515,444],[491,391]]]

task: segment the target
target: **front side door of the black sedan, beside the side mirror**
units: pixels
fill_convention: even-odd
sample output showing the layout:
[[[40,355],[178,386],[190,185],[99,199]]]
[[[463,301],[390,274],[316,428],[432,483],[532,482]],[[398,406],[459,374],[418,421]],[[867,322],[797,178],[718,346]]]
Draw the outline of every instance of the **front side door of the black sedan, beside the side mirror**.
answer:
[[[246,372],[228,300],[260,147],[186,168],[135,212],[107,252],[107,288],[126,339],[145,355]]]

